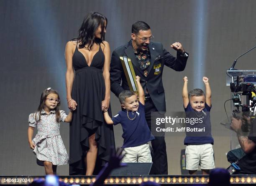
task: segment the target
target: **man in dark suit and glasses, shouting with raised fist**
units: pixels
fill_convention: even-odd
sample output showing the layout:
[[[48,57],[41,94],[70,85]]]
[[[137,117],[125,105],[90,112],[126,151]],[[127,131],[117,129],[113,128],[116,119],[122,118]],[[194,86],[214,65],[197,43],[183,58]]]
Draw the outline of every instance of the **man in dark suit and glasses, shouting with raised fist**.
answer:
[[[129,89],[120,57],[127,56],[131,59],[135,74],[141,77],[141,85],[145,92],[145,113],[149,129],[151,129],[151,112],[166,112],[162,83],[164,65],[176,71],[183,71],[188,58],[188,54],[179,42],[171,45],[177,50],[177,58],[175,58],[163,48],[161,43],[151,42],[153,38],[146,22],[135,22],[132,25],[131,40],[113,51],[110,63],[110,88],[118,97],[120,92]],[[120,85],[121,81],[122,85]],[[168,174],[164,135],[155,135],[151,145],[154,154],[150,174]]]

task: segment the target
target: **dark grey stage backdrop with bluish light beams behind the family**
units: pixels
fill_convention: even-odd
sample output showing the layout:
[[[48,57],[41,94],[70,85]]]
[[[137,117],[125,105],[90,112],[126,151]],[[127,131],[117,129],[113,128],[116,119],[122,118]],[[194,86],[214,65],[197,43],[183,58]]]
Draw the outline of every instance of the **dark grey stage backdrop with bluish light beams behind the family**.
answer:
[[[189,52],[184,72],[164,69],[167,111],[182,111],[182,77],[189,89],[210,79],[212,125],[225,119],[223,103],[230,97],[225,70],[233,60],[256,45],[255,0],[0,0],[0,175],[43,175],[27,142],[28,114],[39,104],[41,91],[52,87],[67,110],[64,50],[76,37],[83,17],[98,11],[108,17],[106,40],[111,50],[130,39],[131,25],[143,20],[151,26],[155,41],[169,45],[179,41]],[[256,50],[238,60],[238,69],[256,69]],[[111,95],[113,113],[120,109]],[[116,146],[122,130],[115,127]],[[69,151],[69,124],[61,124],[61,136]],[[184,137],[166,137],[169,174],[180,174],[179,156]],[[215,164],[228,166],[225,153],[229,137],[215,137]],[[60,175],[68,166],[58,167]]]

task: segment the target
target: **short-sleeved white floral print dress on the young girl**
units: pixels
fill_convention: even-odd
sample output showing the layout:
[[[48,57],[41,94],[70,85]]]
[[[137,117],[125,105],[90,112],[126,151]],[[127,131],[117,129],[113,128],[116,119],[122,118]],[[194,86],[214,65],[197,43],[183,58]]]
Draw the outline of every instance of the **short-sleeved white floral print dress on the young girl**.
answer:
[[[36,123],[35,114],[37,114],[36,118],[39,118],[39,113],[30,114],[28,125],[37,126],[38,130],[32,140],[36,145],[33,153],[36,155],[37,164],[44,166],[44,161],[50,161],[53,165],[68,164],[69,156],[59,133],[60,122],[64,122],[67,115],[61,110],[59,122],[56,122],[55,110],[51,110],[49,114],[42,110],[41,120]]]

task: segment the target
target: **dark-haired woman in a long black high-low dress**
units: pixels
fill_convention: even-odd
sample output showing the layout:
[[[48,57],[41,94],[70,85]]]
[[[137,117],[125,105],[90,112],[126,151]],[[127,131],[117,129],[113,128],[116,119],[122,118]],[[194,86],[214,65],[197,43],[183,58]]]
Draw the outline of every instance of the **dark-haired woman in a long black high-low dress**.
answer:
[[[79,36],[66,45],[67,102],[69,108],[72,104],[77,106],[69,128],[70,175],[92,175],[108,161],[110,146],[115,146],[113,126],[105,123],[102,113],[110,113],[106,26],[106,17],[91,12],[84,18]]]

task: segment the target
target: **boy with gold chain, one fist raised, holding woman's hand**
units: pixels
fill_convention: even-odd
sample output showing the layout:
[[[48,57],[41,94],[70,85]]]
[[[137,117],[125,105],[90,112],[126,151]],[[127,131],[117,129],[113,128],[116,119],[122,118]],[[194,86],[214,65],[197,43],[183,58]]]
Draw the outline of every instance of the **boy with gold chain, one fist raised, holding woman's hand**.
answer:
[[[107,124],[116,125],[120,123],[123,127],[122,148],[125,156],[122,162],[125,163],[152,162],[148,141],[155,138],[151,134],[146,122],[144,110],[145,96],[140,79],[139,76],[136,76],[139,100],[134,92],[125,90],[118,97],[123,108],[122,111],[118,112],[113,118],[110,118],[108,112],[104,112]]]

